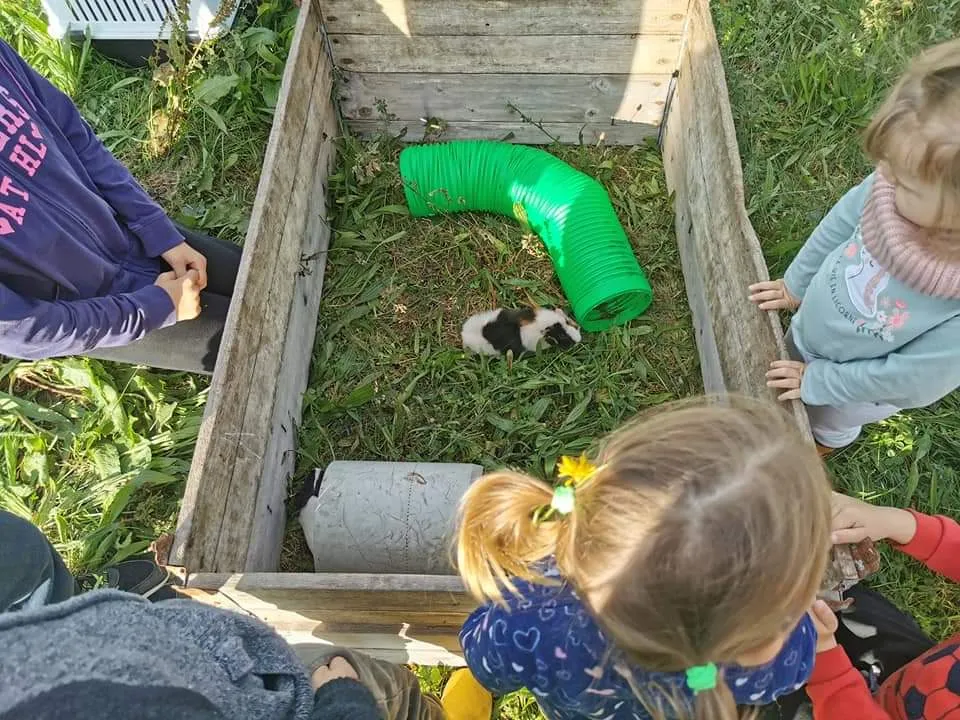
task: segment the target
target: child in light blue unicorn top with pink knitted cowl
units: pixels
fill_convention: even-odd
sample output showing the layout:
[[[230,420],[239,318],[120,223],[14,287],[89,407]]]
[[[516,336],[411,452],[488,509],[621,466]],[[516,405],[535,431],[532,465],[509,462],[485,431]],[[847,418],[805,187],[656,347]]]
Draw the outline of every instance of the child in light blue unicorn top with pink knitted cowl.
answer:
[[[792,360],[767,384],[807,406],[824,451],[960,387],[960,39],[916,58],[865,136],[877,169],[827,214],[782,280]]]

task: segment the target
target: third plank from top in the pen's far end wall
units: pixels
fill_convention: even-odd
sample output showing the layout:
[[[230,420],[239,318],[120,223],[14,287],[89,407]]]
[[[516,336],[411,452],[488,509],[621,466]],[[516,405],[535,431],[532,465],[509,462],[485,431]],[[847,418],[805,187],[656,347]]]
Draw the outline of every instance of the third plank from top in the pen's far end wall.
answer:
[[[513,122],[524,115],[550,122],[611,119],[657,125],[670,87],[661,75],[477,75],[344,72],[340,110],[372,120],[384,108],[401,120]]]

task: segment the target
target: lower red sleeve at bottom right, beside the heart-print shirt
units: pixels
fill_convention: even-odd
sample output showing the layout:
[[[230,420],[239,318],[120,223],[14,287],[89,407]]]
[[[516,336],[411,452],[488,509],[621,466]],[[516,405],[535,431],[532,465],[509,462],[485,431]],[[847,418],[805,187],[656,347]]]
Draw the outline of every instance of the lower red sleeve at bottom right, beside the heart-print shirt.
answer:
[[[815,720],[893,720],[874,701],[863,677],[839,645],[817,655],[807,695],[813,703]]]

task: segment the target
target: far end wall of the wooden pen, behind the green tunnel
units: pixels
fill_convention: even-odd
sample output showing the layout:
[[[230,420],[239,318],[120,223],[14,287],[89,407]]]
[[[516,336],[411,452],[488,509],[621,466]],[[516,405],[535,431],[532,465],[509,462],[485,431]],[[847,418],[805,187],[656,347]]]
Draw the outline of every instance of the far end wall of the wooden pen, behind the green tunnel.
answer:
[[[322,0],[354,134],[635,145],[656,136],[688,0]]]

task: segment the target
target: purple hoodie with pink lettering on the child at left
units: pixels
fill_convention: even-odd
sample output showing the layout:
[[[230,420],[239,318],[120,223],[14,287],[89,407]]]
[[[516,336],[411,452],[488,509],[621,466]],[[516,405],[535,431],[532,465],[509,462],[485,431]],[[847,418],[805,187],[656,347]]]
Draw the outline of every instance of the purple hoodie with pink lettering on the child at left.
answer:
[[[171,325],[183,242],[66,95],[0,41],[0,354],[126,345]]]

